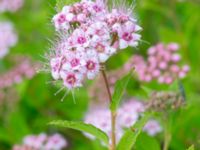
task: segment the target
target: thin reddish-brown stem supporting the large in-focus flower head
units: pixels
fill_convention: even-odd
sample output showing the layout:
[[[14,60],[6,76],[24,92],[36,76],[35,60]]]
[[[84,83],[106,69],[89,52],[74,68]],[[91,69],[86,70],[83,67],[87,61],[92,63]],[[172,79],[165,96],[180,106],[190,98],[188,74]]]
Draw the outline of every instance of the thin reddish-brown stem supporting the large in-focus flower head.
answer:
[[[108,78],[106,76],[106,72],[103,65],[102,65],[101,73],[105,82],[106,90],[108,92],[109,101],[111,103],[112,95],[110,92]],[[110,150],[115,150],[116,149],[116,136],[115,136],[116,112],[111,111],[110,113],[111,113],[111,129],[112,129]]]

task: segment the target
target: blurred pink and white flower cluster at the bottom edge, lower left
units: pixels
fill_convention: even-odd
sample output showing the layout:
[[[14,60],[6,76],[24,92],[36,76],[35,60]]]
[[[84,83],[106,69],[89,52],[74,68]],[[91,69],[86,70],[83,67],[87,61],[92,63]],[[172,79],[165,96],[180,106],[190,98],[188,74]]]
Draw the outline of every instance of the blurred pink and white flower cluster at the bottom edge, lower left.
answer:
[[[48,136],[44,133],[28,135],[22,145],[14,145],[13,150],[62,150],[68,143],[60,134]]]

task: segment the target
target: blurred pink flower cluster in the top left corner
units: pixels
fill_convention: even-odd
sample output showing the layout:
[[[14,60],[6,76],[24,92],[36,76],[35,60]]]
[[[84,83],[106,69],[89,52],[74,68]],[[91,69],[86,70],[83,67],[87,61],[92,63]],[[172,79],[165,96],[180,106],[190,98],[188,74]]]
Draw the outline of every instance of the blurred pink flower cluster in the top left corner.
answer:
[[[23,6],[23,3],[23,0],[0,0],[0,13],[15,12]]]

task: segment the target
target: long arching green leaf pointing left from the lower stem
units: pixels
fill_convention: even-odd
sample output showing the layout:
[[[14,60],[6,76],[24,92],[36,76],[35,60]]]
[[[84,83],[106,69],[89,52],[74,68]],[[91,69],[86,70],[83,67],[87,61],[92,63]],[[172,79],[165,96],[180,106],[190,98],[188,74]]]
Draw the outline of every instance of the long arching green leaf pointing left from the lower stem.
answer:
[[[106,135],[106,133],[91,124],[86,124],[86,123],[78,122],[78,121],[75,122],[75,121],[65,121],[65,120],[52,121],[49,124],[56,125],[58,127],[66,127],[66,128],[75,129],[82,132],[87,132],[89,134],[92,134],[99,140],[102,140],[105,144],[108,144],[109,142],[109,138]]]

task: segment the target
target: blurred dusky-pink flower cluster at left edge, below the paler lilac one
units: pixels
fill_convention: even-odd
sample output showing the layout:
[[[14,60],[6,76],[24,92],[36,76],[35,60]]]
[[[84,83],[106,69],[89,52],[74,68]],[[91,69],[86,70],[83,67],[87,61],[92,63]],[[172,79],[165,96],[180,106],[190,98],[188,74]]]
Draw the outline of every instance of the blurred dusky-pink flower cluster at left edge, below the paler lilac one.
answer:
[[[23,79],[31,79],[36,71],[35,67],[38,66],[36,63],[27,57],[16,57],[16,66],[11,70],[0,74],[0,89],[5,89],[18,84],[23,81]]]

